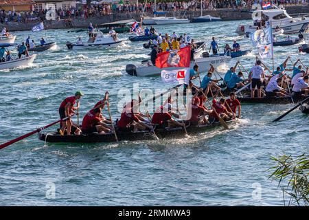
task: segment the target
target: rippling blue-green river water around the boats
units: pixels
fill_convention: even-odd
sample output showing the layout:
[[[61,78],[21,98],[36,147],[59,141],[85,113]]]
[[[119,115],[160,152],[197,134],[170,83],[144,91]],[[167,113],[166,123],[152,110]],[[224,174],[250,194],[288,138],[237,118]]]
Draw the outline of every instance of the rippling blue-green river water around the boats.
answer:
[[[216,36],[221,46],[237,39],[242,49],[251,49],[249,39],[234,33],[238,24],[249,22],[155,28],[162,34],[186,32],[196,41],[210,42]],[[159,77],[137,78],[124,72],[126,64],[148,58],[144,42],[72,52],[66,41],[75,42],[78,36],[85,40],[87,34],[67,30],[14,34],[17,43],[31,34],[36,41],[41,36],[56,41],[58,47],[38,54],[33,67],[1,71],[0,142],[58,120],[58,105],[78,89],[84,92],[81,115],[108,90],[116,118],[119,88],[132,89],[133,83],[141,89],[170,87]],[[253,50],[240,58],[244,67],[253,65],[255,54]],[[288,55],[309,64],[308,54],[299,54],[294,45],[275,48],[276,65]],[[271,61],[265,62],[271,66]],[[270,157],[308,151],[306,115],[295,110],[282,121],[271,122],[290,107],[244,105],[243,118],[227,131],[218,128],[173,140],[44,145],[33,135],[0,151],[0,205],[281,206],[282,192],[277,182],[268,179],[268,168],[274,165]]]

